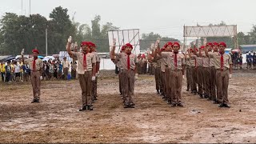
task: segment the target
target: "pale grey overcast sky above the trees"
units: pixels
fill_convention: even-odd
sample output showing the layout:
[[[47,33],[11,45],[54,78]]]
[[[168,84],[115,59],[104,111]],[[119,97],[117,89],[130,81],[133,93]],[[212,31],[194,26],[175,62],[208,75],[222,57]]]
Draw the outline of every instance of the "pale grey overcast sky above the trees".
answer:
[[[23,2],[22,2],[23,1]],[[208,25],[226,22],[238,25],[238,32],[250,32],[256,25],[255,0],[1,0],[0,15],[42,14],[49,18],[57,6],[69,10],[75,21],[90,24],[96,14],[101,24],[112,22],[121,29],[140,29],[182,38],[183,26]],[[23,11],[22,11],[23,3]]]

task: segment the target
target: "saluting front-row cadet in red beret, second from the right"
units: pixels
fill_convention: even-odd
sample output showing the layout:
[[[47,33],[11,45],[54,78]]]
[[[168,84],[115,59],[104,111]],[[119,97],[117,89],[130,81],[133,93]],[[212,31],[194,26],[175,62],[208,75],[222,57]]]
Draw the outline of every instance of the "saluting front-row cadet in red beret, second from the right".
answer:
[[[185,73],[185,57],[179,54],[180,45],[174,42],[174,52],[162,52],[162,57],[170,58],[170,86],[171,86],[171,106],[183,106],[182,104],[182,78]]]

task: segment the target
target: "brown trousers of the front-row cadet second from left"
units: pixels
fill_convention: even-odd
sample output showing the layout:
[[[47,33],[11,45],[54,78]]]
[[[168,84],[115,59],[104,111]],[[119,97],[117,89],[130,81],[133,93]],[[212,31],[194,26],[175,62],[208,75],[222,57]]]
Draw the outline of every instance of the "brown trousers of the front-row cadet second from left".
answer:
[[[92,71],[78,74],[78,78],[82,90],[82,106],[91,106]]]

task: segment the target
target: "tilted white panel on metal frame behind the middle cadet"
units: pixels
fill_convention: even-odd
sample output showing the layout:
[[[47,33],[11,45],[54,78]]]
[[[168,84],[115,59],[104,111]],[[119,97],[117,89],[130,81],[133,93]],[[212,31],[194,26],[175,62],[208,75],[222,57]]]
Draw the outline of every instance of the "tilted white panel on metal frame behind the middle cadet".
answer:
[[[130,43],[134,46],[133,52],[137,53],[136,50],[140,49],[139,42],[139,29],[130,30],[109,30],[108,31],[109,46],[112,47],[114,38],[116,39],[116,50],[120,51],[121,47],[126,43]],[[118,52],[116,51],[116,52]],[[139,53],[139,51],[138,51]]]

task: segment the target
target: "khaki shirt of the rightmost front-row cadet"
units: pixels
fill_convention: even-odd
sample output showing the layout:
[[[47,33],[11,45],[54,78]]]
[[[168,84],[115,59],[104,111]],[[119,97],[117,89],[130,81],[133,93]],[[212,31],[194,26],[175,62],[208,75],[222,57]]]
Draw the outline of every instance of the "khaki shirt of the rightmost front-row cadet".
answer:
[[[221,56],[222,54],[219,54],[217,52],[209,53],[209,57],[214,58],[215,69],[221,69]],[[229,69],[231,64],[233,63],[230,54],[223,54],[223,66]]]

